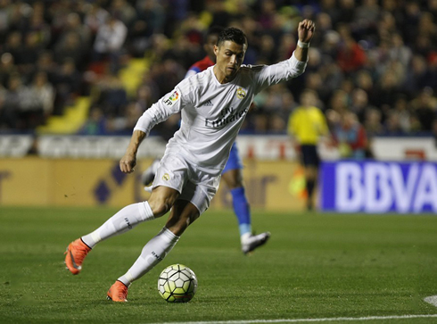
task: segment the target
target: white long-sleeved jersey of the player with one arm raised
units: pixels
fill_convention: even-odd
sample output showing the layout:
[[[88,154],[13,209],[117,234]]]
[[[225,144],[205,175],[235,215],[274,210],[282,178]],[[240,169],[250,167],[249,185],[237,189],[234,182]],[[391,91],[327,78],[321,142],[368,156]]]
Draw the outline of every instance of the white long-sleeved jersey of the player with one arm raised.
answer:
[[[166,154],[180,154],[199,170],[219,175],[253,97],[268,86],[298,77],[306,65],[294,54],[273,65],[242,65],[226,84],[219,83],[211,66],[183,79],[144,112],[134,130],[148,135],[154,125],[181,112],[181,127],[169,140]]]

